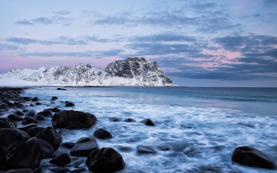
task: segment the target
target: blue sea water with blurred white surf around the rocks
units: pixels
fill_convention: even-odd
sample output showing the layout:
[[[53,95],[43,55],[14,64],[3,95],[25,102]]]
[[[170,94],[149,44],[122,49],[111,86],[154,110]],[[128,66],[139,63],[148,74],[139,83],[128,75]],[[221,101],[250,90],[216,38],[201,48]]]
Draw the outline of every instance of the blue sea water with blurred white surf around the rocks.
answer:
[[[277,89],[186,87],[55,87],[27,89],[22,95],[39,98],[36,111],[50,107],[93,113],[91,129],[71,130],[64,142],[93,136],[98,128],[113,138],[98,146],[113,147],[125,161],[120,172],[276,172],[231,162],[233,149],[249,145],[277,162]],[[57,96],[55,104],[51,97]],[[72,101],[64,107],[60,101]],[[111,122],[109,118],[118,118]],[[132,118],[136,122],[124,122]],[[155,126],[140,121],[150,118]],[[39,122],[50,126],[51,119]],[[137,145],[148,145],[157,154],[137,154]],[[170,146],[169,151],[158,149]],[[128,151],[121,151],[128,147]],[[78,159],[78,158],[73,158]],[[82,160],[81,160],[82,161]],[[84,165],[84,163],[82,163]],[[73,169],[73,167],[69,167]]]

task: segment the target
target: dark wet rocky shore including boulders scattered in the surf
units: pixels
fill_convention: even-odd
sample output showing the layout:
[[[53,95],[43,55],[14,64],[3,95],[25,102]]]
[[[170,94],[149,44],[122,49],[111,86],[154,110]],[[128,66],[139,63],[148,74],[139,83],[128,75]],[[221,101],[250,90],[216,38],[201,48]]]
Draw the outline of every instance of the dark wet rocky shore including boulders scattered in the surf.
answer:
[[[98,147],[97,140],[113,137],[105,129],[96,129],[94,137],[76,139],[75,143],[62,142],[62,136],[70,129],[89,129],[96,125],[96,116],[57,107],[36,113],[32,107],[41,104],[39,98],[21,97],[23,91],[23,88],[0,88],[0,172],[116,172],[125,168],[124,158],[115,149]],[[55,100],[58,98],[53,95],[49,102]],[[74,103],[66,101],[64,107],[74,107]],[[49,118],[52,127],[37,125]],[[118,119],[111,117],[109,121]],[[132,118],[125,120],[133,121]],[[149,118],[141,122],[155,126]],[[160,146],[159,149],[171,148]],[[157,153],[145,145],[138,145],[136,150],[137,154]],[[249,146],[235,148],[230,158],[234,164],[276,169],[269,156]]]

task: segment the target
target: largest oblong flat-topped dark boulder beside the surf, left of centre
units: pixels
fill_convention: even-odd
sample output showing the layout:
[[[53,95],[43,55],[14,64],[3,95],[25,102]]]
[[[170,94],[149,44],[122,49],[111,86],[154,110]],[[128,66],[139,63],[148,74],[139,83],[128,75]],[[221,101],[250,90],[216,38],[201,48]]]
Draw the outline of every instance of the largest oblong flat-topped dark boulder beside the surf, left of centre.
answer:
[[[54,128],[89,129],[96,121],[96,116],[81,111],[59,111],[52,117]]]

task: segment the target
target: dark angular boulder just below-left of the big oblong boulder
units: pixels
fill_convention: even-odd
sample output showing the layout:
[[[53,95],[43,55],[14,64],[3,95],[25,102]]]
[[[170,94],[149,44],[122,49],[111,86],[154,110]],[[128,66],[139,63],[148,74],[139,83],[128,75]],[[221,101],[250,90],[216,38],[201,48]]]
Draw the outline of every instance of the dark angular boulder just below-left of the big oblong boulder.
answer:
[[[46,127],[42,131],[39,131],[37,138],[46,140],[54,149],[57,149],[62,143],[62,136],[52,127]]]

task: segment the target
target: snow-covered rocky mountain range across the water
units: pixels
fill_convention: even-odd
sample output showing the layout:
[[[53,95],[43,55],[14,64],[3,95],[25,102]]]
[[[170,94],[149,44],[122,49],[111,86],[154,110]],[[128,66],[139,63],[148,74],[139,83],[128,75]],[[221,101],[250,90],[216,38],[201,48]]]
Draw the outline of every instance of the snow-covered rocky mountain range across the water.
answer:
[[[54,66],[38,70],[12,69],[0,75],[0,86],[176,86],[156,61],[128,57],[107,65],[104,71],[90,65]]]

